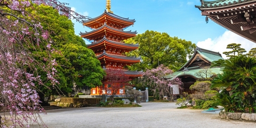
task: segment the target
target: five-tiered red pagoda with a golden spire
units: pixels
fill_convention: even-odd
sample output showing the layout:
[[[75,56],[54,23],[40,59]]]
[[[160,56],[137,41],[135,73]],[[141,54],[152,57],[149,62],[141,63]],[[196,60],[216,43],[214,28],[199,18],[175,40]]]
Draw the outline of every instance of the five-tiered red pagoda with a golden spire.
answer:
[[[87,48],[94,51],[103,69],[122,70],[125,76],[130,78],[142,76],[141,71],[130,71],[125,68],[125,66],[140,62],[140,58],[125,56],[125,52],[136,50],[139,45],[123,42],[124,39],[137,34],[137,31],[124,30],[133,25],[135,20],[119,17],[110,11],[110,0],[107,0],[106,9],[99,17],[83,21],[83,25],[91,28],[92,31],[80,33],[81,37],[91,42]],[[91,89],[91,95],[98,94],[100,94],[98,87]]]

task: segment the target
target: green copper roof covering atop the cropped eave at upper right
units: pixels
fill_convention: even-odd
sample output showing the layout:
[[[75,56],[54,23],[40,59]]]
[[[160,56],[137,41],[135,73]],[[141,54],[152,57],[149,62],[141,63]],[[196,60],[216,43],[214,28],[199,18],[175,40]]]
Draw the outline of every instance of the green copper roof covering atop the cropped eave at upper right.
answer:
[[[249,2],[249,1],[253,1],[253,0],[218,0],[218,1],[201,0],[202,5],[196,5],[196,7],[198,7],[198,8],[221,7],[221,6],[234,5],[234,4],[239,4],[239,3],[243,3],[243,2]]]

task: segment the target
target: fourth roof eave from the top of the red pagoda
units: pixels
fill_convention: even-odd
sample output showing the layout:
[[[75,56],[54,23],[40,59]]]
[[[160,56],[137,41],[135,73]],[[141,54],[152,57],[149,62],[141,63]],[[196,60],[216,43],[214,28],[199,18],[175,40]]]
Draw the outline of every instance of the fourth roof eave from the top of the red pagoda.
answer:
[[[108,54],[105,51],[103,51],[102,54],[98,55],[97,58],[100,59],[111,59],[111,60],[116,60],[116,61],[124,61],[124,62],[140,62],[141,58],[135,58],[135,57],[126,57],[123,55],[113,55],[113,54]]]

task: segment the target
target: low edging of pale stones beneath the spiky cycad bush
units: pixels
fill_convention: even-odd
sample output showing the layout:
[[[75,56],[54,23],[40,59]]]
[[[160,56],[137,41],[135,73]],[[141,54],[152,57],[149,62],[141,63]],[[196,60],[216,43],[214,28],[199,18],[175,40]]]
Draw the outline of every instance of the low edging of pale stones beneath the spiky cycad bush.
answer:
[[[229,113],[225,111],[221,111],[219,113],[221,119],[233,119],[233,120],[240,120],[240,121],[249,121],[249,122],[256,122],[256,114],[249,114],[249,113]]]

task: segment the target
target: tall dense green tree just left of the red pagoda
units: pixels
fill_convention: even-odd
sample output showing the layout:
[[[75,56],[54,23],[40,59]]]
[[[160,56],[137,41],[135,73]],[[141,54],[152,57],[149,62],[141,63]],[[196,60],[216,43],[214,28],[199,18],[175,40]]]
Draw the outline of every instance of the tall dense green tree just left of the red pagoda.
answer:
[[[105,75],[105,71],[101,68],[100,62],[95,57],[92,50],[87,49],[83,39],[75,35],[74,24],[64,15],[59,15],[57,10],[51,6],[34,5],[35,9],[28,9],[35,15],[35,19],[43,20],[42,26],[51,31],[50,37],[52,44],[50,45],[56,51],[53,57],[57,62],[56,74],[58,76],[58,89],[53,90],[51,83],[45,83],[47,86],[39,86],[41,99],[45,95],[50,94],[68,94],[72,90],[75,83],[78,88],[83,86],[94,87],[102,85],[101,80]],[[33,19],[31,19],[33,20]],[[46,44],[45,44],[46,45]],[[45,49],[41,47],[41,49]],[[36,58],[38,61],[44,61],[48,55],[45,51],[33,49],[41,57]],[[39,74],[46,78],[47,74]],[[60,93],[61,92],[61,93]]]

